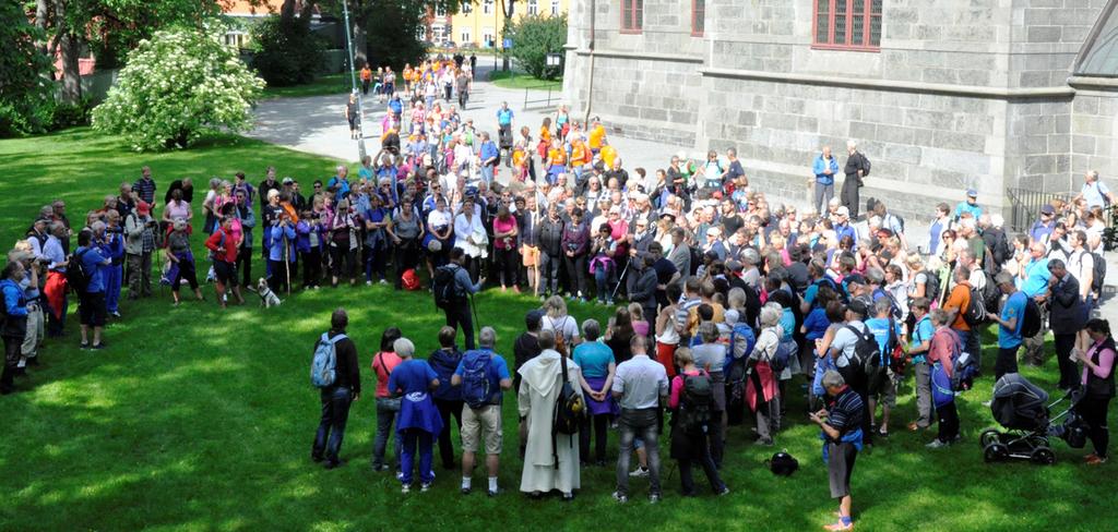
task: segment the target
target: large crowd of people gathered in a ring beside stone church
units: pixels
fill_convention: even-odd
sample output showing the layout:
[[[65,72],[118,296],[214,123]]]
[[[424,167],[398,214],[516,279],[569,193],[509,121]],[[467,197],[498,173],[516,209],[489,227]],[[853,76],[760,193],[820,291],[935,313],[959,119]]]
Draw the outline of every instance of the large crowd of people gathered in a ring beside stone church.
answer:
[[[581,124],[565,107],[538,128],[518,130],[502,105],[498,145],[462,118],[449,90],[437,93],[434,80],[462,74],[462,65],[436,60],[416,70],[418,79],[405,76],[409,109],[399,91],[386,95],[382,149],[361,162],[356,178],[339,165],[306,193],[292,177],[278,180],[276,168],[256,186],[244,173],[212,178],[198,213],[207,261],[192,251],[202,239],[192,235],[197,207],[188,178],[171,183],[157,205],[145,167],[140,180],[86,213],[82,229],[72,229],[64,203],[44,207],[0,281],[7,313],[2,390],[36,364],[45,333],[61,333],[68,291],[77,292],[82,347],[100,349],[106,319],[121,316],[124,287],[130,299],[150,297],[153,270],[179,304],[182,286],[205,299],[199,273],[208,267],[224,308],[244,302],[240,288],[255,284],[256,260],[277,293],[363,279],[443,297],[442,349],[417,359],[414,344],[389,329],[372,360],[372,465],[392,468],[385,456],[395,425],[395,465],[405,491],[417,457],[420,491],[432,483],[435,442],[444,466],[453,466],[453,419],[462,426],[462,491],[472,490],[484,445],[487,492],[499,493],[501,403],[503,390],[514,389],[525,464],[521,491],[572,497],[579,467],[590,463],[591,439],[594,462],[605,463],[606,434],[616,424],[614,497],[625,502],[629,478],[647,476],[650,497],[659,500],[666,407],[674,413],[670,454],[683,493],[694,493],[697,465],[713,492],[724,494],[718,472],[726,426],[743,423],[748,412],[756,443],[774,445],[788,425],[787,399],[799,390],[789,383],[800,378],[825,441],[831,493],[841,500],[832,528],[845,530],[860,448],[898,426],[926,431],[937,424],[932,448],[959,439],[955,402],[984,368],[979,333],[986,327],[998,338],[991,354],[995,378],[1017,371],[1022,347],[1020,360],[1043,364],[1044,335],[1055,335],[1059,386],[1092,394],[1084,402],[1095,444],[1088,463],[1106,462],[1115,351],[1106,323],[1089,326],[1088,318],[1101,296],[1103,210],[1114,194],[1096,173],[1086,175],[1072,201],[1041,207],[1018,236],[1007,235],[1001,216],[967,191],[957,206],[937,206],[925,253],[883,202],[858,214],[858,186],[871,178],[871,164],[853,142],[841,197],[833,197],[840,165],[824,147],[809,181],[813,205],[800,210],[751,187],[732,148],[724,158],[711,151],[705,161],[671,156],[654,172],[627,168],[599,119]],[[82,274],[67,274],[73,269]],[[444,270],[452,281],[439,286]],[[80,286],[67,290],[75,279]],[[542,302],[525,317],[511,370],[495,352],[492,328],[481,328],[480,347],[474,345],[467,296],[486,287]],[[574,300],[616,312],[605,326],[579,322],[567,312]],[[628,303],[618,307],[622,300]],[[1031,312],[1051,327],[1023,335]],[[343,311],[335,312],[328,337],[342,335],[347,322]],[[456,333],[465,336],[464,354]],[[341,338],[335,347],[339,377],[323,388],[312,453],[328,467],[341,463],[349,404],[361,388],[352,341]],[[891,409],[909,375],[917,414],[898,420]],[[577,427],[557,431],[555,413],[576,403],[588,415],[571,414]],[[639,466],[631,472],[634,451]]]

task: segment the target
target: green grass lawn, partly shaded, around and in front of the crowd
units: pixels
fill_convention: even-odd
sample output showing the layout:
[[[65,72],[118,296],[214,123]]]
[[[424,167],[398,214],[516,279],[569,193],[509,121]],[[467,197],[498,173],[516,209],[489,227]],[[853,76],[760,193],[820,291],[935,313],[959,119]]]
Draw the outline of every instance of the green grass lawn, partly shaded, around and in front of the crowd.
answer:
[[[136,154],[87,129],[0,142],[0,238],[12,242],[54,197],[74,219],[100,204],[121,181],[149,164],[161,187],[171,180],[231,176],[244,170],[259,181],[266,165],[301,180],[326,177],[334,162],[243,138],[217,138],[196,149]],[[199,196],[201,194],[199,193]],[[200,251],[200,244],[196,242]],[[205,257],[205,255],[202,255]],[[263,271],[260,264],[255,271]],[[105,351],[76,349],[76,323],[49,342],[44,366],[21,391],[0,398],[2,530],[818,530],[832,520],[818,431],[806,423],[799,380],[789,387],[786,429],[777,447],[755,447],[748,424],[729,431],[723,474],[732,494],[681,499],[679,473],[664,461],[664,501],[618,506],[612,468],[582,472],[572,504],[529,501],[517,493],[515,405],[504,405],[501,484],[505,494],[458,494],[459,475],[436,465],[430,493],[399,493],[390,473],[372,473],[373,380],[368,370],[381,330],[400,327],[418,352],[435,348],[443,320],[429,296],[383,287],[296,293],[278,308],[255,300],[221,312],[211,290],[206,303],[169,304],[167,289],[139,303],[122,302]],[[496,327],[500,351],[510,355],[524,312],[538,304],[494,291],[477,298],[483,323]],[[311,463],[319,399],[309,384],[311,347],[337,307],[350,310],[367,390],[353,405],[342,456],[349,464],[324,471]],[[73,307],[72,307],[73,310]],[[572,306],[579,319],[605,318],[600,307]],[[987,338],[987,340],[989,340]],[[994,350],[987,345],[986,373]],[[1055,362],[1025,375],[1051,389]],[[902,429],[915,410],[911,387],[901,391],[893,435],[858,460],[854,509],[862,530],[1112,530],[1114,464],[1082,466],[1083,451],[1054,442],[1054,466],[987,465],[977,438],[992,426],[980,402],[991,378],[959,403],[964,442],[925,449],[930,434]],[[666,443],[666,438],[665,438]],[[787,448],[802,470],[774,477],[764,460]],[[616,437],[609,456],[616,456]],[[436,460],[436,464],[438,464]],[[701,478],[701,475],[700,475]],[[475,474],[475,486],[484,477]]]

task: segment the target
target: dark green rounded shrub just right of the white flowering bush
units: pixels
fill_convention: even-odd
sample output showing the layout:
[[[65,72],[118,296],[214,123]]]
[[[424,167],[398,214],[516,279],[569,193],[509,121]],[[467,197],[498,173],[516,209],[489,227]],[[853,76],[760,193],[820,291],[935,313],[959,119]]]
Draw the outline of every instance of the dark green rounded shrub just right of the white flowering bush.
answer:
[[[309,84],[322,68],[325,46],[309,19],[271,16],[253,28],[253,40],[259,48],[253,68],[271,86]]]

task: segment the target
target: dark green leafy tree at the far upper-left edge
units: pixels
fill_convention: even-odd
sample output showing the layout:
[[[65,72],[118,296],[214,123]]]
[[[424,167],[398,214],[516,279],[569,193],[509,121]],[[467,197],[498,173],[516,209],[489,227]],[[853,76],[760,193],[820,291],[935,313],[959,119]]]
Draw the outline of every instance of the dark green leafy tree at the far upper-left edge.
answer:
[[[50,122],[50,60],[20,2],[0,0],[0,137],[41,132]]]

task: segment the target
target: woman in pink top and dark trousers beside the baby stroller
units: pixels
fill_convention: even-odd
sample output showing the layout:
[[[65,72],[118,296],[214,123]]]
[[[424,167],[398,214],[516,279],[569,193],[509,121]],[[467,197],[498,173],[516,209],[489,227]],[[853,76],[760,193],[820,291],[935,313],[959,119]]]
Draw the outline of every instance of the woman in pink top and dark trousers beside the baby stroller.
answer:
[[[1107,446],[1110,436],[1107,432],[1107,407],[1115,396],[1115,340],[1110,337],[1110,322],[1092,319],[1087,322],[1087,336],[1091,338],[1091,347],[1087,352],[1079,352],[1083,362],[1083,398],[1076,405],[1076,410],[1087,422],[1088,437],[1095,452],[1087,455],[1087,463],[1099,465],[1107,461]]]

